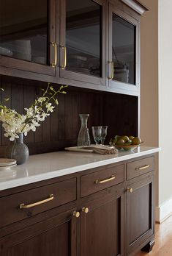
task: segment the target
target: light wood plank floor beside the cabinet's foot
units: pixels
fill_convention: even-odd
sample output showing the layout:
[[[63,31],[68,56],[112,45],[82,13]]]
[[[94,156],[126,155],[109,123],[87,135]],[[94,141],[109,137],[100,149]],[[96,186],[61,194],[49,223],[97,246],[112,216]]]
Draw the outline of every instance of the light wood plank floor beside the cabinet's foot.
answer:
[[[155,226],[155,245],[152,252],[139,252],[135,256],[172,256],[172,216]]]

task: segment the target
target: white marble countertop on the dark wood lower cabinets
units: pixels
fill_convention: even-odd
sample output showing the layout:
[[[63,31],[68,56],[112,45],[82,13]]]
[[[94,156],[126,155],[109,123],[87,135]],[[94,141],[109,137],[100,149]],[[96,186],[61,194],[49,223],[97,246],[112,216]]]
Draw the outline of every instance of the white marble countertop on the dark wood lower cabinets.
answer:
[[[0,191],[66,174],[73,174],[89,168],[130,160],[159,151],[160,148],[139,146],[132,152],[121,151],[116,155],[64,151],[34,154],[23,165],[16,166],[7,171],[0,171]]]

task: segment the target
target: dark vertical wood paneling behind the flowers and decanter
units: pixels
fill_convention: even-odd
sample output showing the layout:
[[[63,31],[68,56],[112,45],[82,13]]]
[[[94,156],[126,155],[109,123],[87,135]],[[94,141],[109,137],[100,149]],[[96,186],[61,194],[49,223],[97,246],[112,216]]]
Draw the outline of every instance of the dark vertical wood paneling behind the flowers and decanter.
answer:
[[[1,76],[1,99],[10,97],[7,107],[12,107],[19,113],[24,113],[24,107],[29,107],[34,99],[41,95],[48,84],[28,79]],[[54,85],[58,88],[59,85]],[[67,94],[59,94],[59,105],[51,116],[37,127],[36,132],[29,132],[25,143],[30,154],[53,152],[64,149],[65,146],[75,146],[81,127],[80,113],[89,113],[88,127],[91,143],[91,126],[108,125],[108,136],[105,143],[114,135],[138,134],[138,97],[119,93],[105,93],[98,90],[88,90],[69,87]],[[4,138],[1,129],[0,156],[4,156],[9,139]]]

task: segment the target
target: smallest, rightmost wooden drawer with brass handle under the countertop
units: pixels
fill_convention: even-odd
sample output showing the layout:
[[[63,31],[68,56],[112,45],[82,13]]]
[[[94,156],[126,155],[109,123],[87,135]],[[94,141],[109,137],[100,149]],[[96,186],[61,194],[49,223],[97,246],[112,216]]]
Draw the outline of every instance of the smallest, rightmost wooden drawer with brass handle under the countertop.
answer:
[[[127,163],[127,179],[138,177],[154,170],[154,157],[146,157],[141,160]]]

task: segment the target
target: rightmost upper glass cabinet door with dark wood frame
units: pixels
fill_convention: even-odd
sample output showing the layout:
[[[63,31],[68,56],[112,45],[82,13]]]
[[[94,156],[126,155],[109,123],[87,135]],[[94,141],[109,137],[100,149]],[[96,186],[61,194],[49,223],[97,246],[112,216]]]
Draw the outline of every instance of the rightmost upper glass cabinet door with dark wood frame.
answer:
[[[110,4],[109,85],[124,90],[138,86],[138,21]]]

